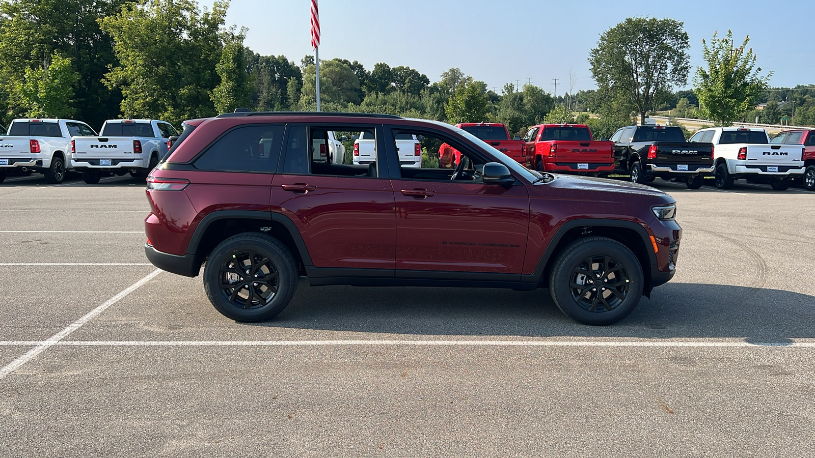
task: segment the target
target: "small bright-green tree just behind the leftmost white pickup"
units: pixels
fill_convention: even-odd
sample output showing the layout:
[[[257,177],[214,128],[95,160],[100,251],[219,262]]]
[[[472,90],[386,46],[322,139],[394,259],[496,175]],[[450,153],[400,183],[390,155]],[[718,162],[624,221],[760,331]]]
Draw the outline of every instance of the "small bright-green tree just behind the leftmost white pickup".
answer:
[[[71,59],[51,55],[42,68],[25,69],[25,77],[18,87],[20,105],[26,117],[73,117],[73,88],[79,74]]]

